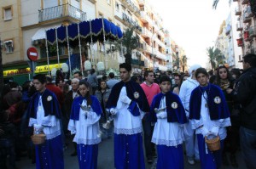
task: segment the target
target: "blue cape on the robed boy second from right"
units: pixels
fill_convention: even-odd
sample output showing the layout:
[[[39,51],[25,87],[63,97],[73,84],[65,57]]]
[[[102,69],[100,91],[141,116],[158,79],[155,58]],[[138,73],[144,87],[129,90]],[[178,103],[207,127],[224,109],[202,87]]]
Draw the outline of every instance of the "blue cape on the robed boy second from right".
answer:
[[[160,108],[161,99],[166,96],[166,112],[167,112],[167,121],[168,122],[178,122],[178,123],[186,123],[187,117],[185,114],[185,110],[183,108],[183,104],[177,94],[172,93],[171,91],[164,94],[159,93],[154,96],[152,104],[150,106],[150,117],[153,122],[157,121],[156,114],[154,112],[154,108]],[[177,108],[172,108],[172,103],[177,103]]]

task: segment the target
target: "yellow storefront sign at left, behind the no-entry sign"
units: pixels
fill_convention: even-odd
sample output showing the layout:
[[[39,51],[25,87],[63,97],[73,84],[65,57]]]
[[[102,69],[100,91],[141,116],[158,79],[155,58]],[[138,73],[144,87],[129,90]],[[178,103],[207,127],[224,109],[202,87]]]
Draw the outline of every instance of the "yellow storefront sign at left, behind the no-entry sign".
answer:
[[[49,71],[53,70],[54,68],[58,69],[61,68],[58,64],[49,65]],[[48,65],[39,65],[36,67],[35,73],[45,73],[48,72]],[[17,70],[4,70],[3,76],[15,76],[15,75],[24,75],[31,73],[30,68],[23,68],[23,69],[17,69]]]

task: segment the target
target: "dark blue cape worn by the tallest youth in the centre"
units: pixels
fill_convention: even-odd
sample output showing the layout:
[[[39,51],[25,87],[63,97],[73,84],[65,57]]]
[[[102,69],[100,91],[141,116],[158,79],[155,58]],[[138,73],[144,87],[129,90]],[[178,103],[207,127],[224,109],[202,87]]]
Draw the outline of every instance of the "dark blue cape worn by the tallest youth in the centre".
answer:
[[[143,91],[143,88],[137,82],[133,82],[133,81],[129,81],[129,82],[121,81],[116,83],[111,90],[106,108],[111,109],[116,107],[119,99],[119,94],[121,92],[122,87],[124,86],[126,87],[126,93],[128,98],[131,99],[131,104],[130,104],[131,113],[132,113],[132,108],[136,108],[135,106],[136,104],[138,104],[140,110],[143,110],[144,112],[149,112],[148,99]],[[134,97],[135,92],[139,93],[139,97],[137,99]]]

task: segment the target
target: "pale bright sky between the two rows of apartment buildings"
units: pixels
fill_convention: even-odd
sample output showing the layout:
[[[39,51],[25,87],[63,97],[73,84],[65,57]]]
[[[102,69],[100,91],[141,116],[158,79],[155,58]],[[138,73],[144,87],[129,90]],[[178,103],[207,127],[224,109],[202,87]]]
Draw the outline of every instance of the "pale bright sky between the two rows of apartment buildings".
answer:
[[[154,10],[164,21],[164,28],[181,46],[188,65],[208,62],[207,48],[214,46],[220,25],[230,13],[229,0],[219,0],[212,9],[213,0],[151,0]]]

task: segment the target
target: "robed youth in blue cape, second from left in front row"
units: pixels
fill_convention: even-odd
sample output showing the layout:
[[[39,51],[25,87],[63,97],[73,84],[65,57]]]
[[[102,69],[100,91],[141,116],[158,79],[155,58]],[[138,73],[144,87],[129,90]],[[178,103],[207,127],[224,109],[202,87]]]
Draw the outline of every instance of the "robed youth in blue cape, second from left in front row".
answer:
[[[79,93],[81,95],[73,100],[68,130],[75,134],[73,142],[77,143],[79,168],[96,169],[102,107],[98,99],[90,95],[88,82],[79,82]]]

